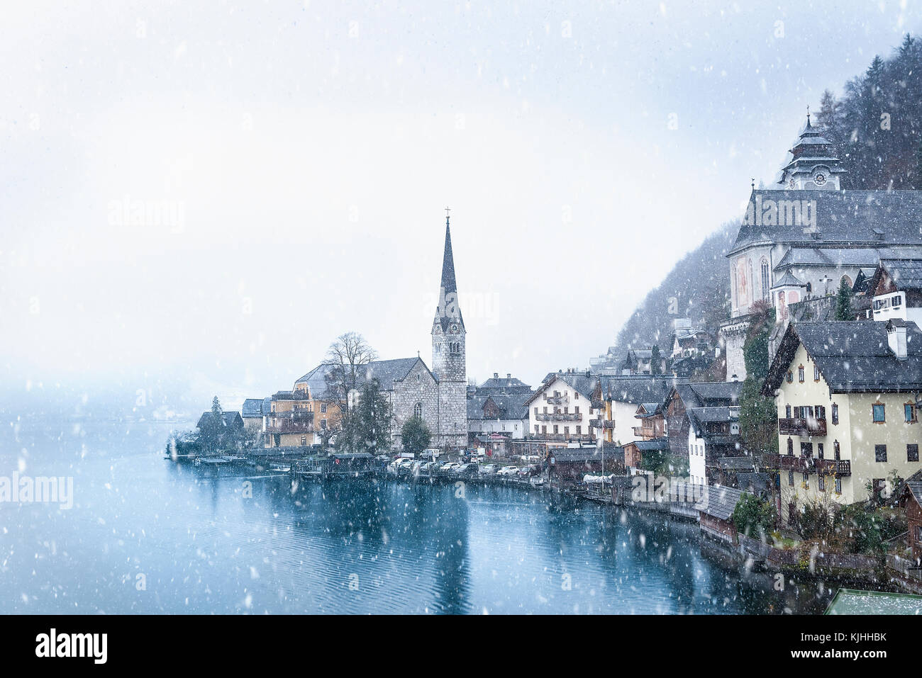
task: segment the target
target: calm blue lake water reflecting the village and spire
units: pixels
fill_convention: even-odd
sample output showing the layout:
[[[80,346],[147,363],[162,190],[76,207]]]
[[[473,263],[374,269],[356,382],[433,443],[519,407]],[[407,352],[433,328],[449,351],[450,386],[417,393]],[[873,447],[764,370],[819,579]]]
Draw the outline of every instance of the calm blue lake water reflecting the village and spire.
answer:
[[[170,430],[6,428],[2,473],[73,476],[74,506],[0,504],[4,613],[817,614],[834,592],[776,591],[689,522],[504,487],[292,490],[165,460]]]

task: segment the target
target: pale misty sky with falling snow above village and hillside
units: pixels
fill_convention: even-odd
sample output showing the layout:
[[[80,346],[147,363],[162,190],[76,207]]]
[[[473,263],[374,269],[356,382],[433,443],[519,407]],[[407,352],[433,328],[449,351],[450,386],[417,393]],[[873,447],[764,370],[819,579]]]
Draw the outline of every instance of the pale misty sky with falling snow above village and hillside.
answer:
[[[262,396],[346,331],[430,363],[445,205],[468,375],[585,367],[806,106],[922,25],[865,0],[88,7],[0,10],[7,395]]]

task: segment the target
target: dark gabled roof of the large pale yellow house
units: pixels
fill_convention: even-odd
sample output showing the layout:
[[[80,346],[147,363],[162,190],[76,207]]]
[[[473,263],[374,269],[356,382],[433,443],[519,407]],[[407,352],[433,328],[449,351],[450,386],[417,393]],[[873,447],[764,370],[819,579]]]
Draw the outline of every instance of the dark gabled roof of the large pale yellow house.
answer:
[[[906,322],[906,359],[897,360],[881,321],[791,322],[762,385],[764,395],[778,389],[798,346],[820,368],[833,393],[922,391],[922,332]]]

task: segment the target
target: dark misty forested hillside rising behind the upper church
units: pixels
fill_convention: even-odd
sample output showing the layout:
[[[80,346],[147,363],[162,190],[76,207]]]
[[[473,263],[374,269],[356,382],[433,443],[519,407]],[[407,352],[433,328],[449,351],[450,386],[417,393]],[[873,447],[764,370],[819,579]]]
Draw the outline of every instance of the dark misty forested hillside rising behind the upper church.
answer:
[[[863,75],[845,84],[841,98],[826,90],[813,123],[848,169],[843,188],[922,190],[922,41],[907,35],[889,58],[875,56]],[[724,255],[738,228],[738,222],[725,224],[677,263],[624,323],[616,345],[665,350],[677,317],[702,321],[714,332],[729,313]]]

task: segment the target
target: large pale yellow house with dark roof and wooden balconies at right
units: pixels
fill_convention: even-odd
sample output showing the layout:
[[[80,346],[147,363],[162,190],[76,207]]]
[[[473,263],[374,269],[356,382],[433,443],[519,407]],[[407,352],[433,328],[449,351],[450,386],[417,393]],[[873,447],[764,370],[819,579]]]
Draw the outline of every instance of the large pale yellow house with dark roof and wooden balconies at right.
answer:
[[[922,332],[892,320],[791,323],[762,392],[778,411],[778,506],[888,497],[922,466]]]

